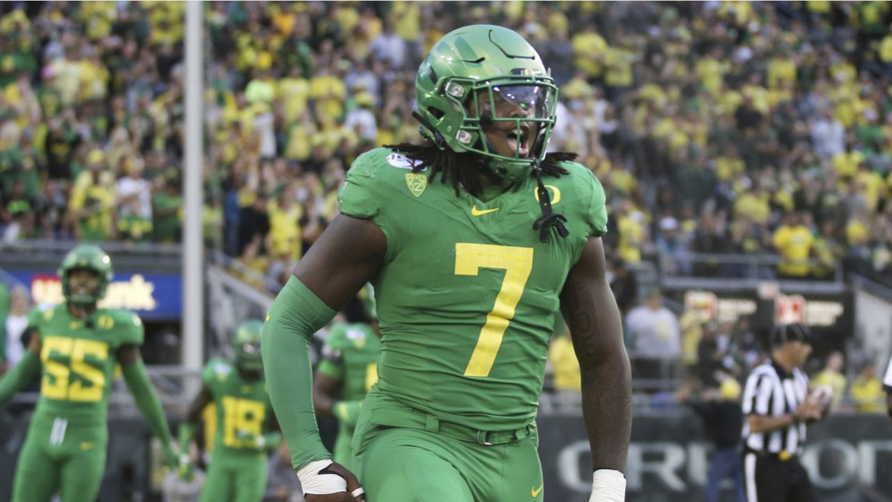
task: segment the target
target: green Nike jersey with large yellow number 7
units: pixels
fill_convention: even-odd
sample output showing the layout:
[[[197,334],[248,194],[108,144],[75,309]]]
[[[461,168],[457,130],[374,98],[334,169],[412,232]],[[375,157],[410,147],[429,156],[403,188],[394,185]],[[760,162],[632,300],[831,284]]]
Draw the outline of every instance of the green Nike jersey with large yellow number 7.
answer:
[[[383,335],[377,389],[483,431],[535,418],[558,295],[590,236],[607,230],[604,190],[578,163],[547,177],[567,238],[543,243],[533,177],[489,201],[428,183],[386,148],[361,155],[338,196],[370,220],[387,252],[373,279]]]

